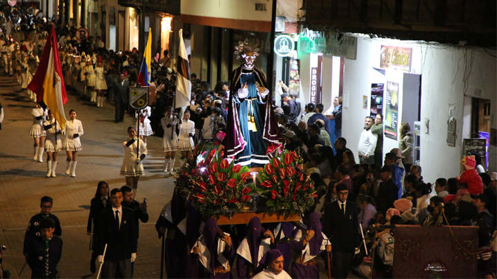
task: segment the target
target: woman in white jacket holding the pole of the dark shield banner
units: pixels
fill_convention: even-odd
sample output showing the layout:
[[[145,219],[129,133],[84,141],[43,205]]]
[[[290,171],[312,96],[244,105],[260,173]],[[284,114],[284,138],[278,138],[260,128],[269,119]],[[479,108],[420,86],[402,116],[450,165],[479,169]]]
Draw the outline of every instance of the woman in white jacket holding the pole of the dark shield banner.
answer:
[[[126,177],[126,185],[133,187],[135,198],[138,192],[139,177],[144,175],[143,160],[148,153],[143,141],[139,141],[134,127],[128,127],[129,138],[123,141],[124,160],[121,176]]]

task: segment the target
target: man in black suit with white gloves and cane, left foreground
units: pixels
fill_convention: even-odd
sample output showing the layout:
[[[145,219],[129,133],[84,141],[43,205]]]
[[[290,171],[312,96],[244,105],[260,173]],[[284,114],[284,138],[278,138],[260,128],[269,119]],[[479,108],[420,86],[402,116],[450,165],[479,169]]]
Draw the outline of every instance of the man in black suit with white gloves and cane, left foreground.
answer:
[[[119,269],[122,278],[133,278],[131,262],[136,259],[135,212],[121,206],[123,196],[118,188],[110,191],[112,207],[100,212],[99,243],[97,260],[103,264],[102,278],[117,278]],[[107,244],[105,259],[104,247]]]

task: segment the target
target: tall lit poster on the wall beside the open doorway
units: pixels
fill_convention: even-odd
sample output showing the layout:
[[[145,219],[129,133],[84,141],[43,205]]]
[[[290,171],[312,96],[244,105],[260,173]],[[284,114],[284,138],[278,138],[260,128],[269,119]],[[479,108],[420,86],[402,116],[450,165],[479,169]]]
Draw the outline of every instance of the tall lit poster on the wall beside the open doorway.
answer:
[[[398,83],[387,81],[385,94],[384,134],[397,141],[398,130]]]

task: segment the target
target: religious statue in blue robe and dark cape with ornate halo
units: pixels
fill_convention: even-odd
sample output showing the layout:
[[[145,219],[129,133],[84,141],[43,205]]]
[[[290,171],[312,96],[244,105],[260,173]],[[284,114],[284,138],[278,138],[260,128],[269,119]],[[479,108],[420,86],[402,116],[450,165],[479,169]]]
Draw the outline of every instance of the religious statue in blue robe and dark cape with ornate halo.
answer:
[[[225,156],[235,156],[235,164],[262,167],[280,147],[280,130],[272,108],[273,94],[266,76],[254,67],[259,56],[258,41],[245,39],[235,46],[237,59],[244,63],[233,71],[230,81]]]

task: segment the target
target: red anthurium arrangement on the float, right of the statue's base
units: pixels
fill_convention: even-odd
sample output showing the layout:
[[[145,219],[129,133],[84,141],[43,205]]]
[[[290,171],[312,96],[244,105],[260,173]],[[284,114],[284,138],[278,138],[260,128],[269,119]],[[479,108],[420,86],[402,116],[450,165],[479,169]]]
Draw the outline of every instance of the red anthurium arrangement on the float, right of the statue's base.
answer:
[[[315,189],[302,164],[300,154],[286,150],[259,172],[261,187],[255,191],[267,199],[271,213],[302,214],[314,204]]]

